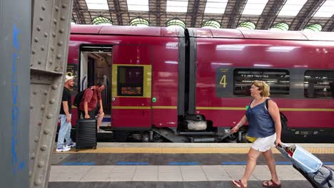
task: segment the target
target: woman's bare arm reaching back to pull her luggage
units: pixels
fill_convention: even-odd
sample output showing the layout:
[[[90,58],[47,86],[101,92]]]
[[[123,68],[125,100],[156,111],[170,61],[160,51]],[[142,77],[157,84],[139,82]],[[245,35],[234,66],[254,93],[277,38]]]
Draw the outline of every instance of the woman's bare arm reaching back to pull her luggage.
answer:
[[[282,143],[280,135],[282,133],[282,125],[280,124],[280,110],[273,100],[268,100],[268,113],[275,123],[276,141],[275,145],[278,146]]]

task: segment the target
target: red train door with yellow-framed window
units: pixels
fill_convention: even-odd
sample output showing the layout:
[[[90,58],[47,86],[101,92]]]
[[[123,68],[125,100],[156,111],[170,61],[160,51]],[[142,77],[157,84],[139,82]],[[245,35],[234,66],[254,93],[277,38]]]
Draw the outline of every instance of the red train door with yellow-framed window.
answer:
[[[111,121],[114,130],[151,129],[151,46],[113,46]]]

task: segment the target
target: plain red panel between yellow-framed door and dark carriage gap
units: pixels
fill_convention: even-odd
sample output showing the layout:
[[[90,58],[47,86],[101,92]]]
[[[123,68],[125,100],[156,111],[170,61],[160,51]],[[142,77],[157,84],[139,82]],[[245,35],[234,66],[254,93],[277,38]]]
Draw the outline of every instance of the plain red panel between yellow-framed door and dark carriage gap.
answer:
[[[176,127],[178,122],[178,41],[153,48],[152,118],[158,127]]]

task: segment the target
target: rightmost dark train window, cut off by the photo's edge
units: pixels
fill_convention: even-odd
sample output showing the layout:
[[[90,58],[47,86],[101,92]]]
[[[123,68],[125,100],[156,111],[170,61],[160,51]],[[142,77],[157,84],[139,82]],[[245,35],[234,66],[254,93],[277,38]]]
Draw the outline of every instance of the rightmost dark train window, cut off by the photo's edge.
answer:
[[[334,98],[334,71],[305,71],[306,98]]]

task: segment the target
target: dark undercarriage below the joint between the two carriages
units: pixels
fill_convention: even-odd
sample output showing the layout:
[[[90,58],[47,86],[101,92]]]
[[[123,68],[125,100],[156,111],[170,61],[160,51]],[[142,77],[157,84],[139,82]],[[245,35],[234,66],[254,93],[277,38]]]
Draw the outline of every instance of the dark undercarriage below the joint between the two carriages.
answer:
[[[116,142],[248,142],[247,128],[238,134],[231,133],[231,127],[213,127],[203,115],[185,115],[178,127],[151,127],[150,130],[113,130]]]

